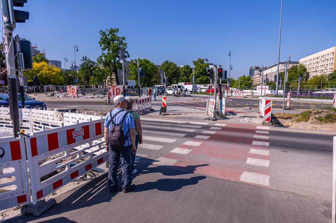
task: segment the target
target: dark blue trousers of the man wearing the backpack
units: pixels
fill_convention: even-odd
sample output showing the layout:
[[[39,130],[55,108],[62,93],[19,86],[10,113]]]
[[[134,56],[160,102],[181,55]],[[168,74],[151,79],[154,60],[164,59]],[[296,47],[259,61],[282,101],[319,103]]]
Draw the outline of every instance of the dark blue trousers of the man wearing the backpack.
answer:
[[[132,184],[131,178],[131,164],[132,164],[132,146],[124,147],[124,149],[114,150],[109,148],[108,150],[108,187],[110,190],[114,190],[118,187],[117,171],[119,161],[121,162],[122,173],[122,188],[130,188]]]

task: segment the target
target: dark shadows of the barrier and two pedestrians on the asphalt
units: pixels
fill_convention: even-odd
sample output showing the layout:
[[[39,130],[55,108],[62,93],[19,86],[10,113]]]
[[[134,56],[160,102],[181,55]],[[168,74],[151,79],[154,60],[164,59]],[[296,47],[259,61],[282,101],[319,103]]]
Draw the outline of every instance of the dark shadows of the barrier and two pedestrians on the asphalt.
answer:
[[[147,175],[149,173],[161,173],[163,176],[179,176],[194,173],[197,166],[208,165],[201,164],[190,165],[186,167],[169,165],[150,166],[153,161],[155,160],[142,158],[141,161],[138,162],[136,165],[136,168],[139,171],[139,175]],[[135,175],[133,176],[133,178],[137,176],[138,175]],[[144,176],[143,178],[146,179],[146,176]],[[156,182],[146,182],[137,185],[137,188],[133,193],[153,189],[157,189],[160,191],[176,191],[187,185],[195,185],[198,183],[198,181],[205,178],[206,177],[203,176],[197,176],[190,179],[158,179]],[[120,173],[118,174],[118,185],[122,185]],[[71,191],[59,195],[58,197],[56,197],[57,203],[38,217],[32,215],[16,216],[5,220],[5,222],[38,221],[41,218],[44,218],[44,222],[48,218],[50,219],[48,222],[73,222],[65,217],[58,217],[55,215],[60,215],[62,213],[72,210],[86,208],[103,203],[108,203],[108,205],[117,205],[117,203],[114,204],[111,201],[113,200],[114,196],[116,196],[118,193],[121,193],[120,191],[121,187],[119,186],[118,192],[115,192],[113,194],[109,193],[109,189],[107,187],[107,173],[105,173],[85,185],[74,188]],[[53,216],[58,218],[53,218]]]

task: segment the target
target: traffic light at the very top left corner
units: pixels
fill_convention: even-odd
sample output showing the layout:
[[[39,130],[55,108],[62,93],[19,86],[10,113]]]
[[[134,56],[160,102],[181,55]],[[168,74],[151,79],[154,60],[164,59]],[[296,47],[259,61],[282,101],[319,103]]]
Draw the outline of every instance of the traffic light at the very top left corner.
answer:
[[[5,28],[15,29],[16,23],[24,23],[29,19],[28,12],[14,9],[14,6],[23,7],[25,3],[27,0],[1,0]]]

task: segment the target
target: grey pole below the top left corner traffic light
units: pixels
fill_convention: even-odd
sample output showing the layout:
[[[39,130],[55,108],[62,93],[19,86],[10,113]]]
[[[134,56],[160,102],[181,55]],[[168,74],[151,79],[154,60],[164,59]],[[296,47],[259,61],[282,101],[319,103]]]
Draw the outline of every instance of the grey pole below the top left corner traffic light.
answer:
[[[4,49],[6,54],[6,67],[8,76],[9,108],[11,120],[13,121],[13,135],[16,138],[19,136],[18,133],[20,131],[20,122],[18,95],[16,88],[13,30],[4,28],[4,35]]]

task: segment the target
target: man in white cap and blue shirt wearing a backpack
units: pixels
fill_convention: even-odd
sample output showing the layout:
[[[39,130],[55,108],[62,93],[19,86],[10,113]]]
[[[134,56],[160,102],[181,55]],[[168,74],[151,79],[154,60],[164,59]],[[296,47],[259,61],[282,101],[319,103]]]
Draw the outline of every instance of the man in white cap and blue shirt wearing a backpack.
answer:
[[[128,193],[135,189],[131,178],[131,153],[137,152],[135,146],[135,125],[132,115],[124,110],[127,107],[125,97],[117,95],[113,101],[115,109],[106,115],[104,123],[104,138],[109,161],[107,185],[110,193],[118,189],[117,171],[120,161],[122,192]]]

